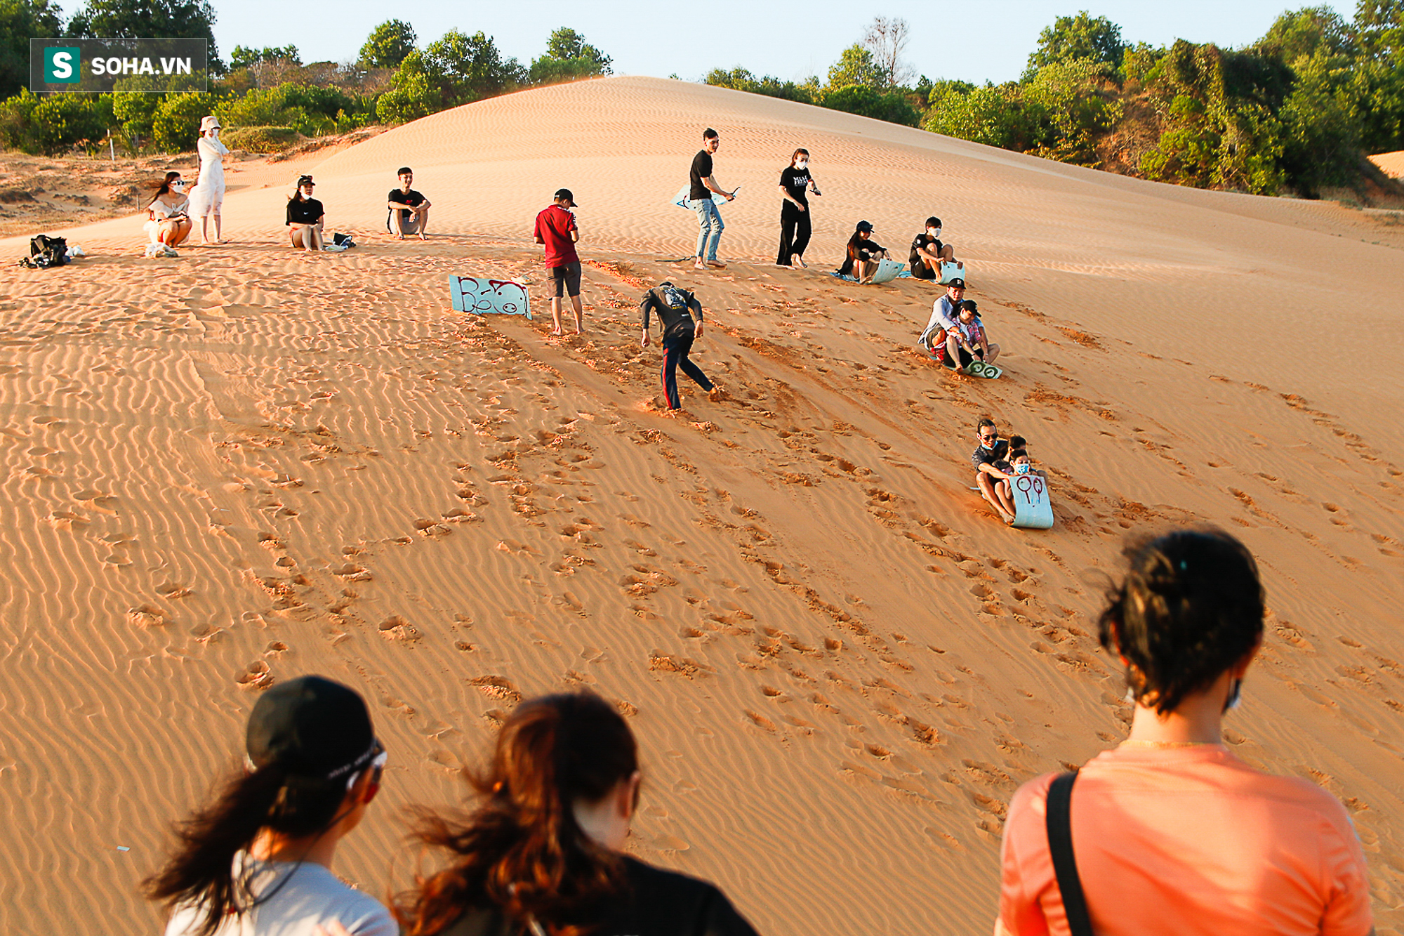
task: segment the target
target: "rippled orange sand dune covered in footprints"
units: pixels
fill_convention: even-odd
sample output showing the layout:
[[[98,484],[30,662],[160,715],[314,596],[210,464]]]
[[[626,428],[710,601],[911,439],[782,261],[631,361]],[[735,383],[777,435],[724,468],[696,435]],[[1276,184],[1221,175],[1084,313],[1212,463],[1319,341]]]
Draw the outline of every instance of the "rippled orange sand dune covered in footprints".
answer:
[[[668,263],[703,125],[743,187],[713,274]],[[809,271],[768,266],[800,145]],[[402,163],[428,243],[376,233]],[[404,880],[396,807],[451,801],[519,697],[590,686],[643,743],[639,854],[762,932],[988,932],[1015,786],[1125,734],[1095,572],[1181,521],[1265,571],[1231,745],[1345,800],[1379,932],[1404,929],[1400,228],[653,79],[473,104],[313,173],[357,250],[281,246],[289,177],[230,194],[227,246],[142,260],[111,221],[69,235],[80,264],[3,273],[0,930],[153,932],[133,888],[164,824],[260,686],[322,672],[392,752],[338,857],[372,892]],[[452,273],[539,287],[560,186],[590,334],[452,313]],[[906,254],[932,212],[1001,381],[911,353],[929,285],[826,275],[856,219]],[[678,419],[635,318],[664,277],[730,392]],[[1029,437],[1053,530],[969,490],[984,413]]]

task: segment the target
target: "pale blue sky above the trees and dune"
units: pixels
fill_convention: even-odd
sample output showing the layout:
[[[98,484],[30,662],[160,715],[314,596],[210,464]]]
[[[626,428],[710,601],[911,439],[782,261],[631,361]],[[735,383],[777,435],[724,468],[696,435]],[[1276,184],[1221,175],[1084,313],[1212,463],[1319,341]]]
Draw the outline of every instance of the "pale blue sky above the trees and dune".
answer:
[[[1060,15],[1088,10],[1122,28],[1126,42],[1170,45],[1177,38],[1233,48],[1262,37],[1287,8],[1320,0],[973,0],[972,3],[852,4],[837,0],[333,0],[288,6],[282,0],[212,0],[215,39],[229,59],[236,45],[296,45],[303,62],[355,59],[378,24],[404,20],[420,46],[452,28],[493,37],[504,56],[528,65],[559,27],[570,27],[614,58],[615,74],[699,80],[713,67],[744,66],[757,76],[802,80],[827,74],[840,52],[862,39],[875,15],[900,17],[911,28],[904,59],[918,74],[963,82],[1008,82],[1025,67],[1039,31]],[[80,0],[65,0],[65,14]],[[1330,3],[1346,20],[1355,3]]]

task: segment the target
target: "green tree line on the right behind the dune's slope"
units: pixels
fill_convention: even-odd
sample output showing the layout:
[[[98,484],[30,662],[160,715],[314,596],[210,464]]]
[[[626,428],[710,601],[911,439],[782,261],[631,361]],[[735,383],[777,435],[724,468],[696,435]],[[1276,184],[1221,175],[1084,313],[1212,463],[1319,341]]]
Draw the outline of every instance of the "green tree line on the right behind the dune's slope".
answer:
[[[908,31],[878,18],[828,80],[716,69],[709,84],[921,126],[1143,178],[1318,197],[1391,188],[1366,153],[1404,149],[1404,0],[1286,11],[1241,49],[1123,41],[1085,10],[1039,35],[1016,82],[911,84]]]

